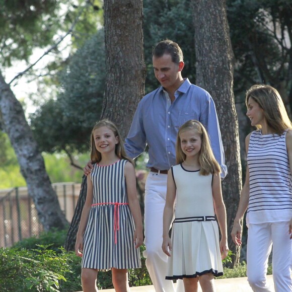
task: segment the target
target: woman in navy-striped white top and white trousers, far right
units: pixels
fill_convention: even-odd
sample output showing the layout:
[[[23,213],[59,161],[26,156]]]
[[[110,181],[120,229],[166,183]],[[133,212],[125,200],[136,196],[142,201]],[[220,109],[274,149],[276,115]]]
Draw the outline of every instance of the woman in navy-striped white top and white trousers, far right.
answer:
[[[266,281],[273,247],[276,292],[292,291],[292,124],[273,87],[254,85],[246,94],[247,116],[256,130],[246,137],[247,171],[232,230],[241,246],[247,210],[247,276],[253,291],[272,291]]]

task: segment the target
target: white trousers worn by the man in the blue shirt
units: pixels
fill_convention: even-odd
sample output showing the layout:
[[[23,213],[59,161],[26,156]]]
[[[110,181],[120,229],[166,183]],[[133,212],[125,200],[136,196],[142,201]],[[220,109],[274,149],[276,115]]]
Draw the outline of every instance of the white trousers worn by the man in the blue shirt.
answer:
[[[144,244],[146,266],[156,292],[174,292],[173,281],[166,280],[167,255],[162,251],[163,210],[167,175],[150,172],[145,184]],[[184,292],[183,281],[177,281],[177,292]]]

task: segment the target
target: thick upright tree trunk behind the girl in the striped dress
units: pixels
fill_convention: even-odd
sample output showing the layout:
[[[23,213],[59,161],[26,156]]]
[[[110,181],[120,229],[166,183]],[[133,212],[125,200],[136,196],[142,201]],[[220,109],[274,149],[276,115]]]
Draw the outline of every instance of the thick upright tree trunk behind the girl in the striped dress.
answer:
[[[104,2],[106,86],[102,118],[119,128],[124,138],[139,100],[144,95],[143,15],[141,0]],[[86,179],[67,234],[66,250],[74,249],[76,233],[86,197]]]

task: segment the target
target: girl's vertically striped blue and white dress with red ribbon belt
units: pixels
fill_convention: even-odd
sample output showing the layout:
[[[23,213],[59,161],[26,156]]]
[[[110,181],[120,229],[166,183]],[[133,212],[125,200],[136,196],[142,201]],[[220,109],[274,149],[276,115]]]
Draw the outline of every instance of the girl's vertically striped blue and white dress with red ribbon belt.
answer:
[[[127,160],[94,165],[93,204],[84,234],[82,267],[98,270],[141,266],[133,243],[134,221],[128,205],[124,166]]]

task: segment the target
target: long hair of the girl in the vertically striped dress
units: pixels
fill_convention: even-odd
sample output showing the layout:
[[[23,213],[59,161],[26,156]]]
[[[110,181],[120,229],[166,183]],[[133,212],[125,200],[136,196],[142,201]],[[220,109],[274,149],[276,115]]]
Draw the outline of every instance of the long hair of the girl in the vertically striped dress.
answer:
[[[108,129],[112,130],[115,137],[118,138],[118,143],[116,144],[116,147],[115,147],[115,154],[117,155],[117,157],[120,159],[126,159],[129,162],[133,163],[132,160],[126,156],[126,152],[124,150],[124,145],[123,145],[124,143],[123,143],[123,140],[119,134],[117,126],[113,122],[111,122],[107,119],[100,120],[99,122],[97,122],[91,131],[90,158],[91,158],[92,163],[98,163],[101,161],[101,153],[99,151],[97,151],[97,149],[95,147],[94,136],[93,136],[94,131],[100,127],[107,127]]]

